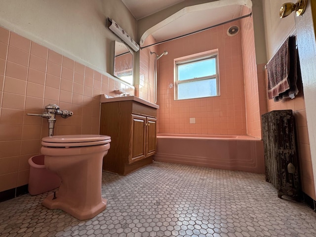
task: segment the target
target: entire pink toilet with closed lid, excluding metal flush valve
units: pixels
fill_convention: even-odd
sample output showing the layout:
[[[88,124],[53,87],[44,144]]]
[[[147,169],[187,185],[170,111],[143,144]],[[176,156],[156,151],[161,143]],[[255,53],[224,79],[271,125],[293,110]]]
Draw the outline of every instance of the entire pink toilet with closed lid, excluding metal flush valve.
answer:
[[[42,138],[45,167],[62,180],[59,190],[42,204],[61,209],[79,220],[90,219],[107,207],[101,196],[102,161],[110,149],[106,135],[64,135]]]

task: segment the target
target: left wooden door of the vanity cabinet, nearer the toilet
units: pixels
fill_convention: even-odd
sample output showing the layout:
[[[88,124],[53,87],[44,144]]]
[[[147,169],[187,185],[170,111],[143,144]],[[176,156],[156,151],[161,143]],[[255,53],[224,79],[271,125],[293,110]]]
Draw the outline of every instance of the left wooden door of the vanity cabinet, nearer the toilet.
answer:
[[[146,158],[146,117],[132,115],[129,163]]]

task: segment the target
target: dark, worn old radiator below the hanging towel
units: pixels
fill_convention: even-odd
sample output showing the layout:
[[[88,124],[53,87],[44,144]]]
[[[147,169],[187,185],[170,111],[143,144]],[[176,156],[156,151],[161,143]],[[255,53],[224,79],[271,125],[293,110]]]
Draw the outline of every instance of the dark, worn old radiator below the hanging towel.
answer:
[[[292,110],[276,110],[262,115],[266,181],[277,196],[300,195],[299,163],[296,155],[295,121]]]

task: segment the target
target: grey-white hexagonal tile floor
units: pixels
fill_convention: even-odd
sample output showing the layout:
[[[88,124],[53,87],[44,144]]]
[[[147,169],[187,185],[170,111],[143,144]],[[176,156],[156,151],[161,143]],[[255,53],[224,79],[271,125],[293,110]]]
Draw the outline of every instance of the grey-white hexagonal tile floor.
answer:
[[[108,207],[79,221],[41,205],[47,193],[0,203],[1,237],[315,237],[316,213],[279,199],[264,175],[154,162],[103,173]]]

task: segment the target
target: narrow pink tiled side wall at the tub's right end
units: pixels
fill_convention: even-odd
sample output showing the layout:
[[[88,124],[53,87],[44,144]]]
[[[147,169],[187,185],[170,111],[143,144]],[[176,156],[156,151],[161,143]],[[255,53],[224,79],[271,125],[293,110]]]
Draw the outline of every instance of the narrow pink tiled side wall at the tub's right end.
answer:
[[[246,8],[244,8],[246,11]],[[248,12],[243,12],[243,15]],[[253,31],[253,19],[247,17],[241,20],[241,38],[243,71],[245,83],[247,134],[261,138],[261,115],[266,113],[264,98],[259,95],[259,87],[262,90],[263,71],[262,65],[256,63],[255,40]],[[260,45],[257,45],[260,47]]]

